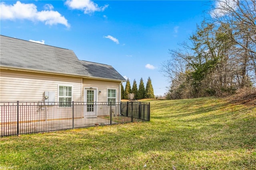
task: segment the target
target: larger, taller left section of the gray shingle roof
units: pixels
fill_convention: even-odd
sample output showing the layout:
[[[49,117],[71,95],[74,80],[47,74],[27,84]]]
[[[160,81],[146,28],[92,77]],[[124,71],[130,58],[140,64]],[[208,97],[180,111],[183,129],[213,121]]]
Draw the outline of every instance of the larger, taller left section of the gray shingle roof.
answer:
[[[72,50],[6,36],[1,36],[0,42],[0,65],[55,73],[88,75]]]

